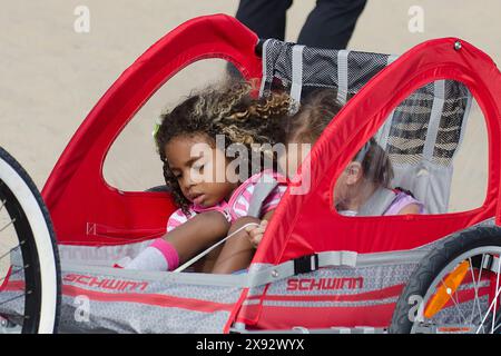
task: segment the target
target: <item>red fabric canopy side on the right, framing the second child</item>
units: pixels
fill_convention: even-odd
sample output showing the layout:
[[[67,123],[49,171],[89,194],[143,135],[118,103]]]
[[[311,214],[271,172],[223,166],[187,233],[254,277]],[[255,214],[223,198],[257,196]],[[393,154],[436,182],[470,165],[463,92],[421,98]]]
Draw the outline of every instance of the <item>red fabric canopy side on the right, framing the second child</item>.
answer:
[[[275,210],[254,263],[277,264],[324,250],[380,253],[423,246],[446,235],[500,217],[501,75],[482,51],[454,38],[414,47],[379,72],[341,110],[311,151],[311,190],[291,189]],[[391,111],[418,88],[441,79],[463,82],[487,120],[489,182],[484,204],[458,214],[343,217],[333,208],[336,178],[383,125]],[[306,179],[303,174],[301,180]]]

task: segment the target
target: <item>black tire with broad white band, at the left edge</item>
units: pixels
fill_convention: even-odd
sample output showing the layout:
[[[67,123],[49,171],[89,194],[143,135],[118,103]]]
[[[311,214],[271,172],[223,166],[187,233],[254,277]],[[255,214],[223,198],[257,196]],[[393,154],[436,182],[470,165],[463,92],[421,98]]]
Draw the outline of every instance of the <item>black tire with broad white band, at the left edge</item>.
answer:
[[[60,313],[61,280],[59,254],[49,211],[26,170],[1,147],[0,170],[3,170],[0,172],[0,201],[4,201],[4,208],[19,241],[17,248],[22,256],[26,294],[21,332],[56,333]],[[13,180],[19,185],[12,187]],[[30,212],[36,212],[33,216],[27,215],[23,206],[28,205]],[[43,266],[50,267],[46,270],[40,268],[41,253]],[[47,276],[48,271],[50,276]],[[53,271],[56,276],[52,275]]]

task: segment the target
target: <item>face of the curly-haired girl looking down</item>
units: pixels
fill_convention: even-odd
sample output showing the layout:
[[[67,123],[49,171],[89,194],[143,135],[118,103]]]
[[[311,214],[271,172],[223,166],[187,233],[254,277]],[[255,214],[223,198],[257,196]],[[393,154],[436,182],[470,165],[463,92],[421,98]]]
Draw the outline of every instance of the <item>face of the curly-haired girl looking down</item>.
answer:
[[[235,177],[227,177],[225,152],[214,146],[204,134],[178,136],[165,146],[170,171],[183,195],[204,208],[229,199],[238,186]]]

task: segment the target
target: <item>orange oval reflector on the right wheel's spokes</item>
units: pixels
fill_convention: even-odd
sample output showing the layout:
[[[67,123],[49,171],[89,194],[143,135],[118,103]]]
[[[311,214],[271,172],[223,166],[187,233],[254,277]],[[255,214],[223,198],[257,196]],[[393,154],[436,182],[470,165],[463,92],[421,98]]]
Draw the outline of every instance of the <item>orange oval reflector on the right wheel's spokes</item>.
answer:
[[[451,299],[451,295],[455,293],[461,285],[469,268],[470,263],[465,260],[449,274],[442,285],[436,289],[435,295],[428,303],[426,308],[424,309],[424,316],[426,318],[432,318],[444,307],[449,299]]]

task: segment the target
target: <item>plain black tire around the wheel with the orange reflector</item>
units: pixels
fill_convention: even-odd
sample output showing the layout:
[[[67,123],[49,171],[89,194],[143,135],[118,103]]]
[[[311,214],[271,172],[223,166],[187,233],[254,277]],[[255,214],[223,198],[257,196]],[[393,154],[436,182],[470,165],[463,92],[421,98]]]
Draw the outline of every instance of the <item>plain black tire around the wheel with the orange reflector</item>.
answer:
[[[409,317],[412,296],[425,296],[436,276],[461,255],[481,247],[501,247],[501,228],[479,226],[452,235],[433,249],[412,274],[402,295],[399,297],[390,334],[410,334],[413,322]]]

